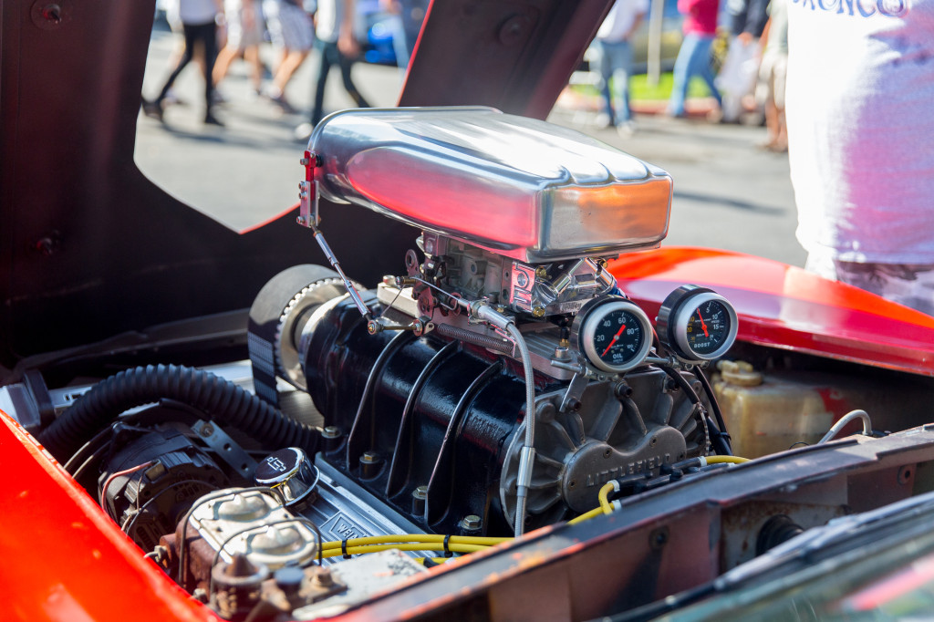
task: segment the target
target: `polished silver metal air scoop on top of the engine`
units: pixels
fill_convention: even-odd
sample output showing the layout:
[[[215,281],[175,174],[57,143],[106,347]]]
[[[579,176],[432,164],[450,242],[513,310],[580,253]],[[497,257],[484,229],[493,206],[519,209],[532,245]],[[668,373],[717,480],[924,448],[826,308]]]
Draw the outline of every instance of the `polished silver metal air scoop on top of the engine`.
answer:
[[[522,262],[657,247],[668,233],[663,170],[495,108],[345,110],[308,148],[325,198]]]

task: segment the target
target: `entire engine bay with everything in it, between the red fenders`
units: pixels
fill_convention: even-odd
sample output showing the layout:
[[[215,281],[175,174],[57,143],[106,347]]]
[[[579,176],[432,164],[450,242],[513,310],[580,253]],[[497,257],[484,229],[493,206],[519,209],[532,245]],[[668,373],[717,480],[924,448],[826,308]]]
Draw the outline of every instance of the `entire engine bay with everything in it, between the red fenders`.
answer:
[[[651,588],[567,597],[573,618],[634,610],[804,530],[934,488],[920,448],[932,432],[872,426],[926,423],[929,383],[880,381],[899,397],[870,421],[850,408],[871,403],[865,383],[833,380],[851,391],[835,398],[847,414],[828,408],[787,431],[776,409],[746,431],[735,413],[781,357],[736,344],[728,297],[679,283],[656,313],[620,289],[610,262],[667,233],[672,179],[658,167],[482,107],[335,113],[302,164],[296,226],[330,265],[292,266],[257,292],[248,361],[166,362],[51,391],[34,375],[0,389],[0,407],[220,617],[352,614],[459,571],[492,593],[471,568],[492,572],[510,551],[521,566],[529,546],[551,560],[545,573],[572,572],[571,543],[589,551],[576,563],[613,560],[618,576],[601,585],[679,551],[703,560],[677,580],[653,566]],[[399,268],[372,288],[347,276],[319,197],[411,225]],[[804,385],[789,379],[781,399]],[[847,462],[828,442],[856,424],[862,434],[840,446],[859,459]],[[743,434],[731,438],[734,426]],[[760,438],[769,426],[778,445]],[[876,437],[888,445],[873,449]],[[771,470],[748,460],[767,454]],[[723,515],[698,509],[708,501]],[[471,611],[515,619],[485,602]]]

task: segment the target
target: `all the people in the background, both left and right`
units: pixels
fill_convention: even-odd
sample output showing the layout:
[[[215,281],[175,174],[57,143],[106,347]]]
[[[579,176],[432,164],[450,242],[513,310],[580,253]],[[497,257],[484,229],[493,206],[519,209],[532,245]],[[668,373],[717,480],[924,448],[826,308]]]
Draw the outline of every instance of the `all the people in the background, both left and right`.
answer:
[[[374,1],[404,67],[428,0]],[[927,114],[934,0],[722,2],[676,0],[681,43],[670,98],[656,112],[698,119],[688,93],[702,89],[702,119],[760,119],[767,132],[761,147],[788,152],[806,267],[934,315],[934,118]],[[222,126],[215,87],[241,58],[254,92],[295,112],[286,87],[312,49],[313,104],[297,137],[310,135],[324,116],[334,68],[356,105],[369,105],[353,80],[361,54],[354,0],[166,0],[165,7],[183,43],[161,89],[144,93],[150,117],[163,119],[175,79],[193,64],[204,77],[205,124]],[[639,36],[653,7],[664,3],[616,0],[589,51],[601,123],[623,137],[637,131],[630,79],[634,55],[647,47]],[[263,44],[276,49],[272,66],[262,64]]]

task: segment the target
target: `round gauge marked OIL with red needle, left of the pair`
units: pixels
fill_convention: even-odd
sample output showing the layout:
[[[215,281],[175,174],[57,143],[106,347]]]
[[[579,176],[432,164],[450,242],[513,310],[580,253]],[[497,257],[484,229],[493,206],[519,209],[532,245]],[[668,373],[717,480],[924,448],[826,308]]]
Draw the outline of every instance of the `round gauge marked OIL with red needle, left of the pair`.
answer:
[[[648,317],[635,303],[619,296],[585,305],[575,325],[581,351],[604,372],[621,374],[637,367],[652,347]]]

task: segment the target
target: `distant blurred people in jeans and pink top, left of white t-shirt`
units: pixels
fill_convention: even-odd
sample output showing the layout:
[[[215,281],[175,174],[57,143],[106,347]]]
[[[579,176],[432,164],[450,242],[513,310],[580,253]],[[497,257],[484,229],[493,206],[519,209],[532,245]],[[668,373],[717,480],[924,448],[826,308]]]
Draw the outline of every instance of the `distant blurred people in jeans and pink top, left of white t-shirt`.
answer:
[[[691,80],[699,78],[713,100],[703,109],[707,120],[762,120],[768,138],[761,147],[787,150],[788,2],[727,0],[722,7],[719,0],[678,0],[681,45],[673,63],[672,93],[665,114],[674,118],[697,116],[687,107],[687,95]],[[602,105],[598,122],[616,126],[623,137],[637,127],[630,106],[630,78],[634,46],[646,46],[649,10],[649,0],[617,0],[588,53],[597,68],[594,73],[599,75]]]

